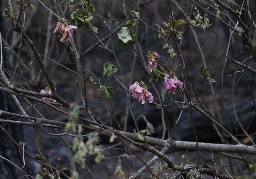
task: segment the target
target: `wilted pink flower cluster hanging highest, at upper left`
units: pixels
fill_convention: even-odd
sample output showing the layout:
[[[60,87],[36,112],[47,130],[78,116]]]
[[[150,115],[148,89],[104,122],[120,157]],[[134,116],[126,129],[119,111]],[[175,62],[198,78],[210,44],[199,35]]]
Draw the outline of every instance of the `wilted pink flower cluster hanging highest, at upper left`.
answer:
[[[73,32],[75,30],[77,30],[76,26],[68,26],[68,25],[65,25],[65,24],[62,24],[62,23],[58,22],[58,24],[56,25],[56,28],[53,31],[53,33],[61,33],[61,34],[63,34],[63,36],[60,39],[60,41],[61,42],[65,42],[65,41],[67,41],[73,35]]]

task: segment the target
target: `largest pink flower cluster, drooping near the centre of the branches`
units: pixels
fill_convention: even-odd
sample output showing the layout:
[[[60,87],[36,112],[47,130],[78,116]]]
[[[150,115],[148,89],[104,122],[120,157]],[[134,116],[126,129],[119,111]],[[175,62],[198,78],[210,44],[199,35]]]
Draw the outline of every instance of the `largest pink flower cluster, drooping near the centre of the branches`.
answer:
[[[136,81],[130,86],[130,89],[132,90],[132,96],[138,99],[141,104],[147,104],[147,101],[149,103],[153,102],[154,96],[152,96],[152,94],[148,92],[147,86],[144,82],[141,81],[140,83],[138,83]]]

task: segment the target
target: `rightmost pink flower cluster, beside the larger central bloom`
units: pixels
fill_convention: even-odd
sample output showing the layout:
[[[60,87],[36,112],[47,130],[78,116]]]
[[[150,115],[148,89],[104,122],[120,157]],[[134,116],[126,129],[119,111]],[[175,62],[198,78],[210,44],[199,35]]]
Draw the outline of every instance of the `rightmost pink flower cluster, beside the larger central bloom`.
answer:
[[[165,91],[167,91],[169,94],[172,92],[172,94],[175,94],[177,91],[177,87],[182,89],[183,83],[177,79],[176,76],[164,74],[164,83],[166,85]]]

